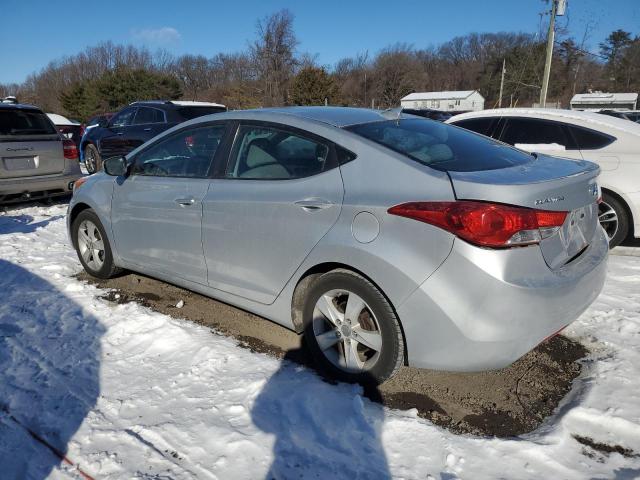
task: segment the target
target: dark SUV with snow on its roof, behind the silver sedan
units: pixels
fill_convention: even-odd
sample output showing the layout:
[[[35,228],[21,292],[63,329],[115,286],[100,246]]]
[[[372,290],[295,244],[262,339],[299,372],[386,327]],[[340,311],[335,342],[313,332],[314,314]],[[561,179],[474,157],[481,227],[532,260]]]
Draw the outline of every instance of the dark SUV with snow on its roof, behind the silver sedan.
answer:
[[[102,168],[102,160],[126,155],[160,132],[178,123],[211,113],[226,112],[218,103],[182,101],[133,102],[107,122],[102,120],[87,129],[80,141],[84,163],[89,173]]]

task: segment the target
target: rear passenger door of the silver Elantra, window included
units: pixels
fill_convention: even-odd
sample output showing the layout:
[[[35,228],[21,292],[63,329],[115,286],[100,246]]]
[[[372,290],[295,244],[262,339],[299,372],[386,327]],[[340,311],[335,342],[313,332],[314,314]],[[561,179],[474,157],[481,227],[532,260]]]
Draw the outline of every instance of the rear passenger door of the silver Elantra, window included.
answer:
[[[273,302],[336,222],[343,193],[330,142],[241,124],[225,176],[211,182],[203,202],[209,285]]]

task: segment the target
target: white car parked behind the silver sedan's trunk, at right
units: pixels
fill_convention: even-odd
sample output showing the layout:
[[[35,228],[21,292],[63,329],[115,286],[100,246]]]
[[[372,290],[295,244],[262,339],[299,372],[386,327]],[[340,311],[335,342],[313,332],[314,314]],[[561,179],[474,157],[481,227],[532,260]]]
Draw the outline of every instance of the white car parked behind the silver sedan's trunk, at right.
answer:
[[[446,121],[527,150],[600,165],[600,224],[611,248],[640,238],[640,124],[593,112],[502,108]]]

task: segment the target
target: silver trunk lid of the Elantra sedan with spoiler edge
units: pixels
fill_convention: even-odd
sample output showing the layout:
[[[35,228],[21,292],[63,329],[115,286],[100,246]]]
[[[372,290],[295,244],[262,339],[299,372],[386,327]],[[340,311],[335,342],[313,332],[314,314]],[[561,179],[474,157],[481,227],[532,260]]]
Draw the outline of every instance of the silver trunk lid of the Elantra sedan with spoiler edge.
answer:
[[[460,200],[568,212],[560,230],[540,242],[542,255],[554,270],[578,257],[599,228],[600,190],[596,183],[599,173],[595,163],[546,155],[509,168],[448,172],[456,198]]]

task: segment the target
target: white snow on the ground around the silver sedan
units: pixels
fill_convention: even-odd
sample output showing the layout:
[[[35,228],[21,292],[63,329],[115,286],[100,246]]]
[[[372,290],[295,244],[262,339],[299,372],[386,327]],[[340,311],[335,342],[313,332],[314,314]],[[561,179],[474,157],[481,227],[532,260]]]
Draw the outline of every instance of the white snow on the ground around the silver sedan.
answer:
[[[557,414],[522,437],[478,438],[207,328],[100,299],[73,278],[64,214],[56,205],[0,215],[3,479],[83,478],[25,428],[106,479],[640,478],[640,457],[573,437],[640,453],[632,249],[610,257],[603,294],[569,329],[592,354]]]

